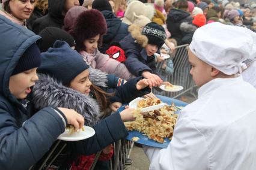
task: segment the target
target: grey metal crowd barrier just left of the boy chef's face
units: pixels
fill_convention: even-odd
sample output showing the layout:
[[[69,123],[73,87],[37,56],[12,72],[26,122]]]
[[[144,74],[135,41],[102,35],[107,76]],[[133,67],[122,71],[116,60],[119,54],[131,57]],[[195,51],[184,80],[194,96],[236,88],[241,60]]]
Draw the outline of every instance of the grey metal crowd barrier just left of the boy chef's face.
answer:
[[[172,75],[166,75],[162,69],[163,62],[157,63],[157,72],[170,83],[178,86],[183,86],[184,89],[179,92],[165,92],[159,89],[153,89],[152,92],[156,95],[168,96],[170,98],[178,98],[184,93],[190,93],[195,98],[197,98],[197,86],[192,80],[192,76],[189,74],[190,64],[187,56],[188,44],[180,45],[175,48],[174,53],[171,53],[174,72]]]

